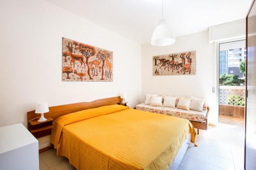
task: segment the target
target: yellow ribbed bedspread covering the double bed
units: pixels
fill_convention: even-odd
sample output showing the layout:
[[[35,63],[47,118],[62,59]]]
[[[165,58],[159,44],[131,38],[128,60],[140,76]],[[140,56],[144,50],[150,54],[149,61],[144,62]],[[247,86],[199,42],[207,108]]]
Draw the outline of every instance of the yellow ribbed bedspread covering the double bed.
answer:
[[[189,133],[186,119],[111,105],[59,117],[51,142],[77,169],[168,169]]]

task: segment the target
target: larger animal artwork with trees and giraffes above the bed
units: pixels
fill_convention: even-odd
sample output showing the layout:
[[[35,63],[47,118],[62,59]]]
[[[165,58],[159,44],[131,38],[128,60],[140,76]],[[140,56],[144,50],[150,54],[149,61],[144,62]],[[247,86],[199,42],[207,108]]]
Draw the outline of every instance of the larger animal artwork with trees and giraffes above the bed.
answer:
[[[113,52],[62,38],[62,81],[113,81]]]

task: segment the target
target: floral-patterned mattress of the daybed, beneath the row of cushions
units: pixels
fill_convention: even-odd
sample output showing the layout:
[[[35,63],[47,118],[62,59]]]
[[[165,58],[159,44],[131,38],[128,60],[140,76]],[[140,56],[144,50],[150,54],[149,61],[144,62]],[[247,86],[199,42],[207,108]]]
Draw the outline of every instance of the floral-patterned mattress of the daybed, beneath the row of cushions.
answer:
[[[188,120],[192,120],[195,122],[204,123],[207,110],[203,110],[202,112],[195,110],[183,110],[178,108],[171,107],[162,107],[162,106],[150,106],[144,103],[136,106],[136,109],[142,111],[148,111],[152,113],[165,114],[168,116],[180,117]]]

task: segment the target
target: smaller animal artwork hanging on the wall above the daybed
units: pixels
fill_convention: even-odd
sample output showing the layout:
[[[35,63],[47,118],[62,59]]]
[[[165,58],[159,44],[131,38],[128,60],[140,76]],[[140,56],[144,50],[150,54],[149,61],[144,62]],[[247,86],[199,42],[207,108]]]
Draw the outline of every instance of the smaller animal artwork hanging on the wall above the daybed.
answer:
[[[153,56],[153,76],[195,74],[196,51]]]

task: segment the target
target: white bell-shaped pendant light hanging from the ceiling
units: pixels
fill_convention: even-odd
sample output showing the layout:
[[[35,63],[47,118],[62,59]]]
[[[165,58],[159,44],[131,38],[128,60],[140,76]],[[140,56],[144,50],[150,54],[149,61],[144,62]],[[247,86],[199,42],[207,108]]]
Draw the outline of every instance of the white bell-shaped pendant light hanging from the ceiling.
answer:
[[[162,19],[159,20],[157,28],[154,30],[151,44],[154,46],[167,46],[175,43],[175,36],[163,19],[163,0],[162,0]]]

